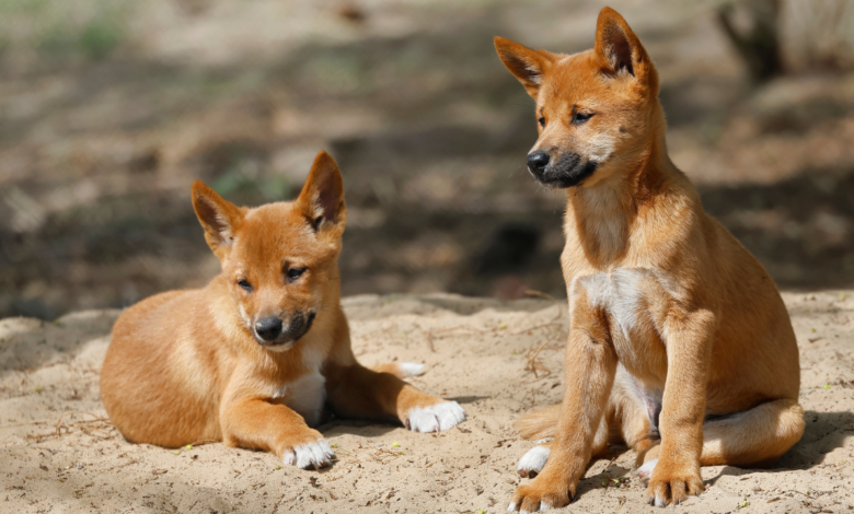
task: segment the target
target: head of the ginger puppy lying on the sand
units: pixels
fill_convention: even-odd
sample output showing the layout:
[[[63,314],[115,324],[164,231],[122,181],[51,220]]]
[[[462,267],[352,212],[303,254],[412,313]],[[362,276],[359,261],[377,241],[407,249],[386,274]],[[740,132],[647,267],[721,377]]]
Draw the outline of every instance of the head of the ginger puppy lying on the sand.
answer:
[[[320,152],[297,200],[236,207],[199,180],[193,208],[255,340],[288,350],[338,301],[347,211],[335,161]]]

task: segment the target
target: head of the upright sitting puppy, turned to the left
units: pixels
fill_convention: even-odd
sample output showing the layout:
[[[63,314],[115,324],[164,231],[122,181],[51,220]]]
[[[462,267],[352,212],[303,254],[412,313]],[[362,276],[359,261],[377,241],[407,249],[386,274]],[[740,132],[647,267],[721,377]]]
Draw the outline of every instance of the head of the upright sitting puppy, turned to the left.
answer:
[[[592,186],[642,159],[655,130],[663,128],[655,126],[663,124],[655,67],[610,8],[599,13],[593,49],[552,54],[501,37],[495,47],[536,101],[540,138],[528,168],[544,185]]]

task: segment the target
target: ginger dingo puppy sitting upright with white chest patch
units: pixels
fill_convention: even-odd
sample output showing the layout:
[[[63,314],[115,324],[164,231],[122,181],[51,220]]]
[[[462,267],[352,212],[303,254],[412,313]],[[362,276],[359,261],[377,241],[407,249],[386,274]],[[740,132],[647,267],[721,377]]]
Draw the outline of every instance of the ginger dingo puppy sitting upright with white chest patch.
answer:
[[[701,466],[768,467],[804,432],[798,349],[769,274],[667,154],[658,75],[605,8],[575,55],[500,37],[505,66],[536,101],[528,166],[567,191],[561,257],[569,300],[562,405],[523,417],[510,511],[566,505],[591,457],[624,441],[649,503],[704,489]],[[658,442],[660,434],[660,443]]]

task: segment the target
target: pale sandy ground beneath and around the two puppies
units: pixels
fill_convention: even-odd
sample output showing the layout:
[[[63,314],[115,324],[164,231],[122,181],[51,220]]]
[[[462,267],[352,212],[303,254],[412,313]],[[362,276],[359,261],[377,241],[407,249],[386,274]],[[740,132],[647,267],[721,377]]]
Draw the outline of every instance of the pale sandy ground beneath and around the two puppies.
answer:
[[[854,509],[854,292],[785,300],[801,350],[804,439],[772,470],[704,468],[707,491],[678,512]],[[414,382],[460,401],[469,420],[437,435],[332,422],[322,431],[339,459],[320,472],[221,444],[129,444],[105,419],[97,386],[118,312],[9,318],[0,320],[0,512],[505,512],[523,481],[516,463],[533,446],[512,424],[562,395],[563,304],[428,295],[345,305],[362,362],[426,362]],[[613,457],[592,465],[568,512],[654,511],[631,475],[633,453]]]

